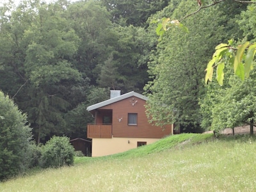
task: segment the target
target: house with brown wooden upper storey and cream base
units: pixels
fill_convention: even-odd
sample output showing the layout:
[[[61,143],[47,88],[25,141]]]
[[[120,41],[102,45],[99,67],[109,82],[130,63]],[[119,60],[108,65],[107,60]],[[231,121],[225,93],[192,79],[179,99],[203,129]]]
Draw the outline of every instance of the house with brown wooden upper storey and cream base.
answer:
[[[110,95],[110,99],[87,108],[95,121],[87,125],[92,157],[124,152],[173,134],[173,125],[157,127],[148,123],[147,97],[136,92],[120,95],[120,90],[112,90]]]

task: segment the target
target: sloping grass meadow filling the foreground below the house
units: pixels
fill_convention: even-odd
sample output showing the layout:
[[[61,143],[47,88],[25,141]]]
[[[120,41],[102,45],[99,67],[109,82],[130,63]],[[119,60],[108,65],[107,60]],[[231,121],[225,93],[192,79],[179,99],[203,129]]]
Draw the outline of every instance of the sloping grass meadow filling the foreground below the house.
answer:
[[[0,191],[256,191],[256,141],[180,134],[74,166],[37,170],[0,183]]]

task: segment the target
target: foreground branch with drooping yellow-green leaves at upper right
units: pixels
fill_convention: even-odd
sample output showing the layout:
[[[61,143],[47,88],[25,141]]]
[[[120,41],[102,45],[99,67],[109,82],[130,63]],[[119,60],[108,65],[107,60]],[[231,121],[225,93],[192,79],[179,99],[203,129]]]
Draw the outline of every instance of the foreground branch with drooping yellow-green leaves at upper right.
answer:
[[[202,6],[201,1],[198,1],[199,9],[196,10],[196,12],[190,13],[189,15],[186,15],[180,20],[171,20],[170,18],[164,18],[162,19],[162,23],[157,26],[157,35],[163,36],[164,31],[168,31],[168,29],[172,27],[183,29],[184,31],[188,31],[188,28],[181,24],[180,22],[188,17],[191,17],[191,15],[195,15],[196,13],[200,12],[203,8],[209,8],[211,6],[214,6],[218,3],[221,3],[226,0],[219,0],[215,1],[213,0],[212,4],[208,4],[206,6]],[[236,3],[250,3],[250,4],[256,4],[256,1],[240,1],[240,0],[232,0]],[[242,45],[238,45],[237,47],[232,46],[233,41],[229,40],[228,44],[220,44],[216,46],[216,51],[214,52],[212,56],[212,60],[209,61],[207,68],[205,69],[205,83],[207,81],[212,81],[213,71],[216,67],[217,72],[217,81],[220,85],[223,85],[223,79],[224,79],[224,68],[225,63],[228,63],[232,59],[234,63],[234,74],[236,74],[242,81],[244,81],[245,78],[248,78],[250,76],[250,72],[253,69],[253,59],[256,54],[256,44],[250,44],[250,42],[245,42]],[[229,52],[230,50],[236,51]],[[246,56],[245,60],[242,60],[243,56]],[[223,60],[223,58],[227,58],[227,60]]]

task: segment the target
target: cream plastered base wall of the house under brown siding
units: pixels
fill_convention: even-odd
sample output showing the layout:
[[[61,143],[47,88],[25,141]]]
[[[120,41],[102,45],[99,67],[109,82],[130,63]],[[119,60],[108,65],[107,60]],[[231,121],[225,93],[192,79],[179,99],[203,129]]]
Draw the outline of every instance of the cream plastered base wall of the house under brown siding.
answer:
[[[93,138],[92,157],[108,156],[137,148],[137,142],[147,142],[147,145],[159,139],[152,138]]]

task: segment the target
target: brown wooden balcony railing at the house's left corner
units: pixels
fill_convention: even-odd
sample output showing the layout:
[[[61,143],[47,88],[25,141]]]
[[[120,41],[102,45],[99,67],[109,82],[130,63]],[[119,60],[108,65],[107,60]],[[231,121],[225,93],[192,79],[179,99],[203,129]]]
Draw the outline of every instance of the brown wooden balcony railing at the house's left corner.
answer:
[[[88,138],[112,138],[112,125],[87,125]]]

